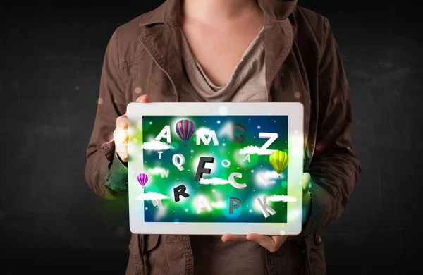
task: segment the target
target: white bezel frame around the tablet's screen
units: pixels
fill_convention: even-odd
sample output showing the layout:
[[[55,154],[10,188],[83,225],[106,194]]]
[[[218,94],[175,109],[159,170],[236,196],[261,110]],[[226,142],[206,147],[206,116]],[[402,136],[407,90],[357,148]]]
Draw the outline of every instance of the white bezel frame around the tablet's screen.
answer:
[[[128,162],[128,200],[130,231],[135,234],[184,234],[184,235],[298,235],[302,228],[302,167],[304,156],[304,106],[300,102],[161,102],[130,103],[127,108],[129,121],[128,134],[136,127],[142,116],[195,116],[195,115],[276,115],[288,116],[288,194],[298,198],[296,202],[287,202],[288,221],[286,223],[177,223],[145,222],[144,212],[135,217],[133,204],[137,207],[143,200],[135,200],[142,188],[136,176],[143,167],[133,167]],[[133,143],[128,143],[128,155],[133,152]],[[142,161],[142,164],[144,161]],[[301,169],[295,169],[301,167]],[[136,190],[136,191],[135,191]]]

